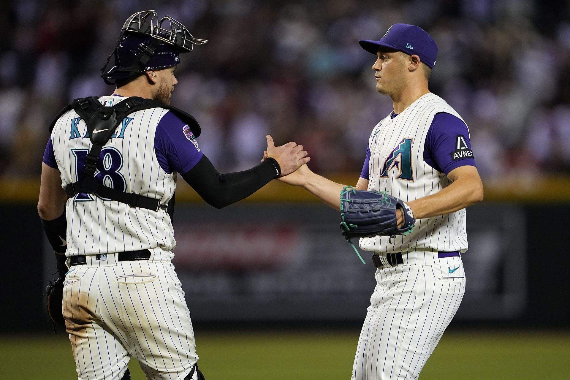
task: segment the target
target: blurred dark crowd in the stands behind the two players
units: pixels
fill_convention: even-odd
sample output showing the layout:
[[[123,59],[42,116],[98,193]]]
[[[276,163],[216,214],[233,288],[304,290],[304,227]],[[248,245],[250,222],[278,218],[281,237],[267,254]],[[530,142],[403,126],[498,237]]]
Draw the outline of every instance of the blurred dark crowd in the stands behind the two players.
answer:
[[[5,0],[0,177],[35,177],[52,117],[108,95],[100,77],[125,19],[156,9],[208,43],[181,56],[172,104],[202,125],[222,172],[296,141],[319,173],[359,173],[392,111],[359,39],[417,24],[439,47],[430,90],[466,120],[483,178],[570,173],[570,18],[549,0]],[[355,178],[356,180],[356,178]]]

